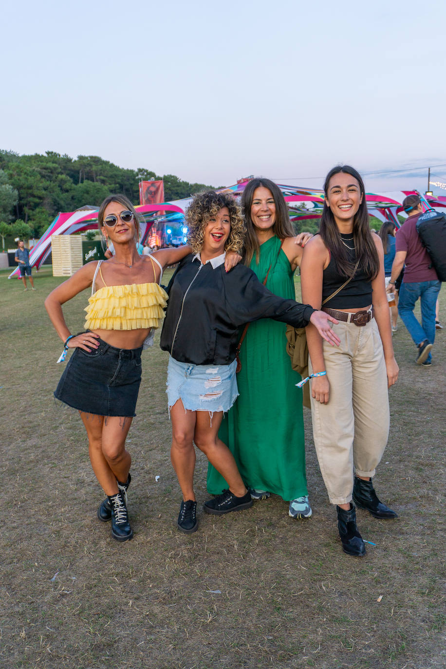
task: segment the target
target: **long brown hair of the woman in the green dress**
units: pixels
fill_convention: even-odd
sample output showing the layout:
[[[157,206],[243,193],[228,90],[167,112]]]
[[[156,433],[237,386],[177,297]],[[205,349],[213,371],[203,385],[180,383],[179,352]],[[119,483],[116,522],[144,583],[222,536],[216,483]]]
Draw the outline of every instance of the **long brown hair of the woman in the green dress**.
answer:
[[[273,225],[273,233],[283,240],[285,237],[294,237],[294,229],[288,215],[288,207],[282,191],[270,179],[263,179],[263,177],[256,177],[249,181],[247,187],[241,195],[241,206],[245,215],[246,237],[245,246],[243,248],[243,262],[245,265],[251,263],[253,255],[255,254],[255,262],[259,262],[259,240],[255,234],[254,224],[251,220],[251,205],[254,199],[254,191],[257,188],[267,188],[273,196],[275,204],[275,222]]]

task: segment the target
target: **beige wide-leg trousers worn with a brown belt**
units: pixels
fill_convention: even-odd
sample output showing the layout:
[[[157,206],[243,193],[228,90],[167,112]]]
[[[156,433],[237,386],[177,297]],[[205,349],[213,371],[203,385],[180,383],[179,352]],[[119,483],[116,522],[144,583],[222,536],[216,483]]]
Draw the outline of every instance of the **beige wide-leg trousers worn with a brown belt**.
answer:
[[[333,326],[339,347],[324,341],[328,404],[311,397],[314,444],[332,504],[352,499],[354,473],[374,476],[389,427],[387,375],[376,320]],[[312,373],[311,361],[309,362]],[[311,381],[310,381],[311,383]]]

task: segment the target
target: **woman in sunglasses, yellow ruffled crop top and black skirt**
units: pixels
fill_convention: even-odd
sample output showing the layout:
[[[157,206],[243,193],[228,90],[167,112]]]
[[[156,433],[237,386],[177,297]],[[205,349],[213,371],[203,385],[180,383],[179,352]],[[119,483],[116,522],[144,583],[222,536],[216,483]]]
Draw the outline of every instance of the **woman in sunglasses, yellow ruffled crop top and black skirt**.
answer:
[[[161,249],[139,256],[138,214],[124,195],[106,197],[98,212],[98,228],[115,255],[89,262],[45,300],[51,322],[64,341],[64,354],[75,349],[55,397],[78,409],[86,427],[90,462],[107,497],[99,520],[112,520],[112,537],[133,536],[126,507],[131,457],[126,436],[135,413],[141,381],[141,351],[160,326],[166,292],[160,287],[164,267],[191,252],[189,246]],[[229,258],[227,268],[237,262]],[[62,304],[92,286],[86,307],[86,332],[71,334]],[[64,359],[64,354],[61,359]]]

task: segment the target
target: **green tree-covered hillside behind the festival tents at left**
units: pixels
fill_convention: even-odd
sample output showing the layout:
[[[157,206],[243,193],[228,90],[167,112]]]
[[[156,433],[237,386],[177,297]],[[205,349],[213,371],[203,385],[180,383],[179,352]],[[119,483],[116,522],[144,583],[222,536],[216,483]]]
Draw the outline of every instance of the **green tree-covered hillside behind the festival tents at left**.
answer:
[[[98,206],[110,193],[124,193],[138,203],[138,183],[149,179],[164,181],[166,200],[207,187],[145,168],[124,169],[99,156],[73,159],[55,151],[19,155],[0,150],[0,237],[39,237],[59,211]]]

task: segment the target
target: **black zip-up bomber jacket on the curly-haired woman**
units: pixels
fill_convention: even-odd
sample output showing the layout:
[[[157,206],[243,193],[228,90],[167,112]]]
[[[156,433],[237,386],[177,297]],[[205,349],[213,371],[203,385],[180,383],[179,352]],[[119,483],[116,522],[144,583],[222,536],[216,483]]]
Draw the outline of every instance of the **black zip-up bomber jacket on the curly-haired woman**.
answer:
[[[189,254],[169,286],[160,347],[192,365],[229,365],[235,360],[239,327],[259,318],[302,328],[315,311],[308,304],[271,293],[245,265],[230,272]],[[284,346],[285,346],[284,338]]]

